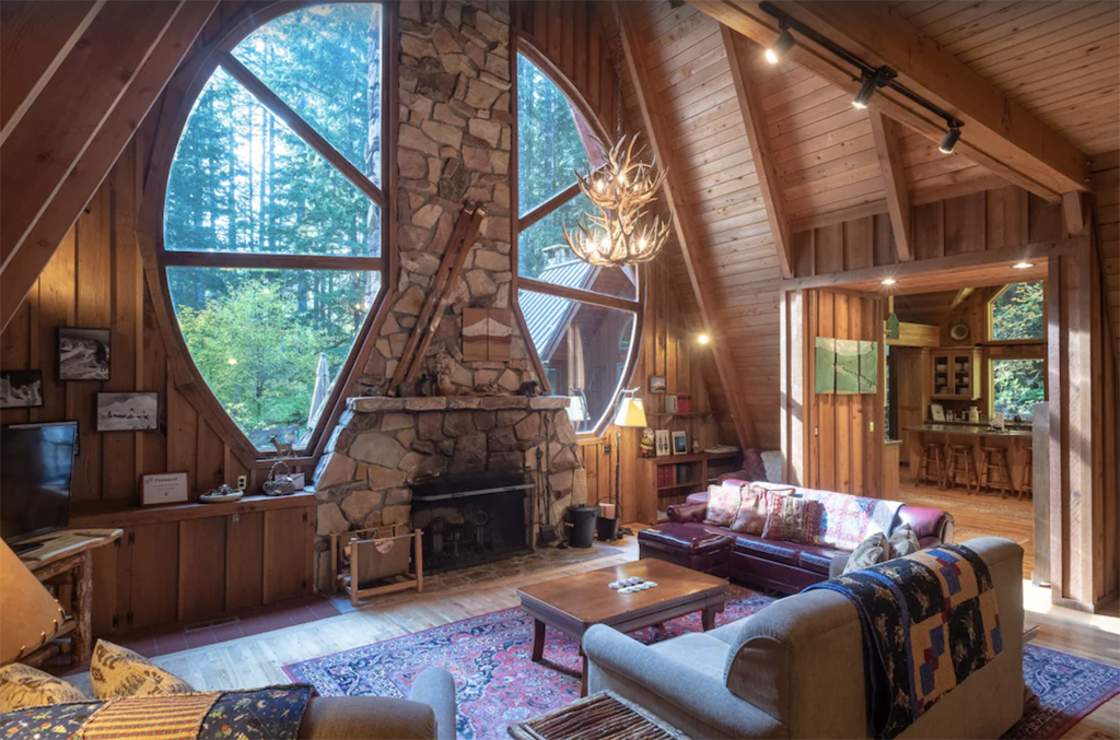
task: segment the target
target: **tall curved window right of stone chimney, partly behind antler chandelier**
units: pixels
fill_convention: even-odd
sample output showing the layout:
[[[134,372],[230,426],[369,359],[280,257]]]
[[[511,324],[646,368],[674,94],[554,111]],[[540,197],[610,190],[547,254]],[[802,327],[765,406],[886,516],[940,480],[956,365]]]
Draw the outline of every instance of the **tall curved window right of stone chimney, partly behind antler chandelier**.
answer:
[[[557,84],[519,55],[519,305],[552,392],[575,399],[578,432],[601,429],[628,380],[641,311],[637,270],[592,268],[563,238],[563,225],[592,209],[575,175],[601,163],[590,132]]]

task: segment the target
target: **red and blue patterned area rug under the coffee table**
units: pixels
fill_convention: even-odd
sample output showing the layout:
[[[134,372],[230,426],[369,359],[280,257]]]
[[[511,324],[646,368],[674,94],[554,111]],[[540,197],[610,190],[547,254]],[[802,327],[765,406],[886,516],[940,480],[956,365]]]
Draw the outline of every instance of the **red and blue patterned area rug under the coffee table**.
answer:
[[[717,617],[719,625],[753,615],[773,601],[732,590],[727,609]],[[699,630],[700,615],[696,613],[632,636],[651,644]],[[417,674],[428,666],[444,666],[455,675],[458,689],[459,737],[504,740],[510,724],[579,697],[576,640],[549,629],[547,666],[530,659],[532,640],[532,620],[520,609],[505,609],[284,666],[284,672],[328,696],[404,696]],[[1039,706],[1005,740],[1055,740],[1120,693],[1120,669],[1056,650],[1028,645],[1024,669]]]

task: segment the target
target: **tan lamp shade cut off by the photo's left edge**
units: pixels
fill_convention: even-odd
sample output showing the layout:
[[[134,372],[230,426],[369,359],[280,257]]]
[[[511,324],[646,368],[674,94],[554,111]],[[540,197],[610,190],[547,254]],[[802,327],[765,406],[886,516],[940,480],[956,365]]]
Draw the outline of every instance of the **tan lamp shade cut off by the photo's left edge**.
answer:
[[[39,579],[0,541],[0,665],[24,658],[52,639],[65,615]]]

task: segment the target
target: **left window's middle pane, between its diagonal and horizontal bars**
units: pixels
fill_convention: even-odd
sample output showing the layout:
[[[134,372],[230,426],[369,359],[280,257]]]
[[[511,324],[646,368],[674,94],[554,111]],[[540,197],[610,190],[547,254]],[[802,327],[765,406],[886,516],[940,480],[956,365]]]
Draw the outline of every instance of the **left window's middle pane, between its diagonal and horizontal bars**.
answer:
[[[169,250],[381,253],[379,208],[221,68],[175,152],[165,218]]]

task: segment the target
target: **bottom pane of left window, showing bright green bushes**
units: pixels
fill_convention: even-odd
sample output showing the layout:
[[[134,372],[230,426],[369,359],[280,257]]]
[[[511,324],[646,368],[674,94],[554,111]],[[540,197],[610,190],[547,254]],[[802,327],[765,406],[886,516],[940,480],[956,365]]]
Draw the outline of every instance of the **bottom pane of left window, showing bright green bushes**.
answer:
[[[168,268],[195,365],[259,449],[297,447],[381,288],[377,272]]]

